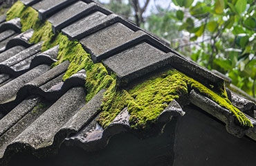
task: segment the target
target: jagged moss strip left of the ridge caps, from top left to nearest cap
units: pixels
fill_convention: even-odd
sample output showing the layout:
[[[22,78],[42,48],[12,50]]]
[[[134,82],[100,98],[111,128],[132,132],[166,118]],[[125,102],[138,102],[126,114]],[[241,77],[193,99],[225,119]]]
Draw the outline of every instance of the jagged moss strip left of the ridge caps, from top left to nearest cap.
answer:
[[[57,44],[60,44],[58,61],[53,64],[56,66],[68,60],[71,64],[68,66],[63,80],[77,73],[81,69],[86,70],[86,101],[91,100],[93,96],[102,88],[107,88],[113,78],[108,75],[106,68],[102,64],[93,64],[89,54],[87,54],[82,45],[78,42],[71,42],[68,37],[60,34],[54,35],[51,24],[48,21],[42,22],[38,19],[38,12],[31,7],[24,6],[17,1],[7,13],[7,20],[19,17],[21,19],[22,32],[33,28],[34,33],[30,42],[37,43],[44,41],[42,51],[48,50]]]

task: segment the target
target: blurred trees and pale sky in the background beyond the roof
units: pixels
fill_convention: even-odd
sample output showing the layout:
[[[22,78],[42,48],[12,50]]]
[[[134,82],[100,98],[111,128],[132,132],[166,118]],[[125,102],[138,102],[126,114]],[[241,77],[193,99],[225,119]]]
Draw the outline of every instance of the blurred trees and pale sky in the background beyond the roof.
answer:
[[[0,14],[15,1],[0,0]],[[165,39],[172,48],[201,66],[226,76],[228,88],[256,101],[256,0],[98,3]]]

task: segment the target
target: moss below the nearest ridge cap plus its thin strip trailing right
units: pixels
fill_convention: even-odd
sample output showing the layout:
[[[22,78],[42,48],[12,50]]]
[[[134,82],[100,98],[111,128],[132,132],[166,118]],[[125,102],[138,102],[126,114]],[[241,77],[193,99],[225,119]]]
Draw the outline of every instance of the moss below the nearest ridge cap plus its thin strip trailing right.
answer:
[[[102,113],[98,122],[102,127],[107,127],[118,113],[127,107],[131,114],[129,119],[131,127],[134,129],[150,129],[160,113],[167,107],[167,104],[174,99],[179,100],[179,98],[188,95],[189,89],[199,91],[214,102],[217,102],[221,107],[234,113],[242,126],[253,127],[250,120],[228,100],[224,86],[219,89],[221,93],[215,93],[175,69],[162,73],[157,77],[152,77],[142,84],[129,89],[129,91],[116,89],[116,80],[114,80],[104,95]]]

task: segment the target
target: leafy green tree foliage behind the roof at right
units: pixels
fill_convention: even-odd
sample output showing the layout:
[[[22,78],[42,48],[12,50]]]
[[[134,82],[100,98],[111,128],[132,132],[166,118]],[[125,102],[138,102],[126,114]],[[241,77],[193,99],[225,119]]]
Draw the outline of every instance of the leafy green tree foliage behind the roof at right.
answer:
[[[255,97],[256,1],[172,1],[181,8],[176,11],[179,30],[197,41],[191,58],[228,75],[232,84]]]

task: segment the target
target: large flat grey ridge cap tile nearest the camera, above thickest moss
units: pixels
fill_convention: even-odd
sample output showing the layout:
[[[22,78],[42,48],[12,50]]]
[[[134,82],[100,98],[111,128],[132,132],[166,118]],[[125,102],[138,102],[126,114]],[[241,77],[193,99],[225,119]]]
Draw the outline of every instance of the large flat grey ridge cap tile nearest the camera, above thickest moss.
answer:
[[[120,85],[155,71],[168,64],[170,54],[143,42],[121,53],[103,60],[103,63],[115,72]]]

